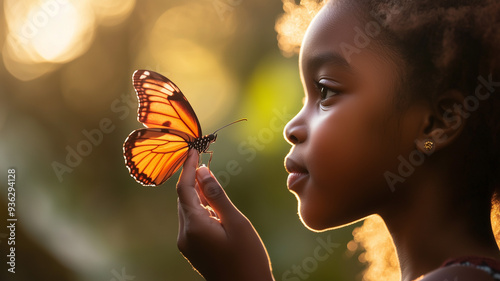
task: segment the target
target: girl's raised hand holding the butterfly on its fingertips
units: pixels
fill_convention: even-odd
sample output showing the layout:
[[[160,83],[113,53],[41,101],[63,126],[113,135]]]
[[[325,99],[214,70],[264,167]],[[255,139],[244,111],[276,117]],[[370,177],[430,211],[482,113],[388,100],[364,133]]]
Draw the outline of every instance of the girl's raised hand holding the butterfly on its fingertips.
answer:
[[[264,244],[206,167],[190,152],[177,182],[177,246],[206,280],[274,280]],[[195,179],[196,177],[196,179]]]

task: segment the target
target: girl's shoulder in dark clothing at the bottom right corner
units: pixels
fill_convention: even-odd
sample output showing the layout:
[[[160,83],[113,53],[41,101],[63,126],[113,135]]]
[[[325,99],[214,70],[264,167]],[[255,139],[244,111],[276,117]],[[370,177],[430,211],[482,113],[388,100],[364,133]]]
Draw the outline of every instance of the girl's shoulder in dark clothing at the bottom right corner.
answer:
[[[499,281],[500,261],[486,257],[450,259],[419,281]]]

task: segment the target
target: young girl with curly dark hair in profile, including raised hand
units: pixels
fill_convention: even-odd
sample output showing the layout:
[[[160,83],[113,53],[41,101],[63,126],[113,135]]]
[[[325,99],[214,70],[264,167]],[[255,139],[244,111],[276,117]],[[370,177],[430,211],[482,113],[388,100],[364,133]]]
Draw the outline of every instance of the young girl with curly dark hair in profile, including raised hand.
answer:
[[[332,0],[300,53],[302,110],[285,128],[306,227],[372,214],[402,279],[500,280],[500,3]],[[192,152],[178,246],[207,280],[274,280],[251,223]],[[203,207],[205,206],[205,207]]]

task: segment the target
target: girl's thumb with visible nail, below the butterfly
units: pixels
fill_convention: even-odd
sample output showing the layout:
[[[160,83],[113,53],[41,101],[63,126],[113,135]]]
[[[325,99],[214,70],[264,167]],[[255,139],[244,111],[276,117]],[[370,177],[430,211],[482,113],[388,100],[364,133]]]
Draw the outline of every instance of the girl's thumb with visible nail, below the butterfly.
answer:
[[[207,167],[198,168],[196,171],[196,180],[208,204],[222,221],[239,215],[239,211],[227,197],[226,192]]]

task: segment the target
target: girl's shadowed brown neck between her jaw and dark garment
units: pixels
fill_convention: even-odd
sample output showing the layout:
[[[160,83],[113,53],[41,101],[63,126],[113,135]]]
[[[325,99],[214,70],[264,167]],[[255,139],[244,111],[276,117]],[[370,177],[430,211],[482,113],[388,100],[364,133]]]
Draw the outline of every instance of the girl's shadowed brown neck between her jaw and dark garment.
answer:
[[[403,281],[414,280],[449,258],[500,259],[489,209],[474,209],[478,215],[473,217],[473,206],[450,196],[462,187],[443,182],[443,174],[435,175],[413,179],[413,184],[402,187],[406,191],[396,191],[400,194],[395,194],[390,210],[380,213],[396,246]]]

